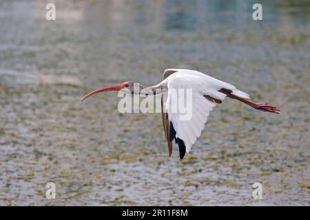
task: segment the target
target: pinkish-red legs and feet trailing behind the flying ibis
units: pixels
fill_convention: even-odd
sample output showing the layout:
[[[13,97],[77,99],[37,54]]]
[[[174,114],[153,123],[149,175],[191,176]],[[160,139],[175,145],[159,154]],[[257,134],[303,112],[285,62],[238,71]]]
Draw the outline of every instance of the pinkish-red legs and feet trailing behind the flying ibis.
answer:
[[[272,112],[272,113],[276,113],[276,114],[278,114],[280,111],[280,109],[277,109],[276,107],[274,107],[271,104],[267,104],[267,103],[263,103],[263,102],[252,102],[252,101],[247,100],[245,98],[240,98],[239,96],[231,94],[232,91],[229,89],[220,89],[220,92],[222,92],[223,94],[226,94],[227,97],[229,97],[229,98],[239,100],[240,102],[243,102],[243,103],[249,105],[250,107],[257,109],[257,110],[260,110],[260,111],[268,111],[268,112]]]

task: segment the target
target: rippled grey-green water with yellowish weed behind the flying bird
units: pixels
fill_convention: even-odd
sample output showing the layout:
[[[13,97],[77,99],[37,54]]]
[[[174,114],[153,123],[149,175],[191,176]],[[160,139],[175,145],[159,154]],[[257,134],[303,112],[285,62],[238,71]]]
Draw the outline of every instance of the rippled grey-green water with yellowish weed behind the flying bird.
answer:
[[[263,21],[254,1],[202,0],[56,1],[47,21],[50,2],[0,3],[0,205],[309,206],[308,1],[261,1]],[[111,83],[158,83],[169,67],[282,113],[225,100],[180,161],[161,115],[118,113],[112,92],[79,102]]]

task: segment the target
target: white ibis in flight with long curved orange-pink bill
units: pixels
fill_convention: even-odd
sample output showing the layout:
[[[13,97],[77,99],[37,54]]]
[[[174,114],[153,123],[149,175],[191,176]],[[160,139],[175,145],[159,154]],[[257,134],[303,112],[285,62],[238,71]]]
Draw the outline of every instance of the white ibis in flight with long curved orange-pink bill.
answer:
[[[263,103],[251,102],[249,95],[240,91],[229,83],[217,80],[207,74],[190,69],[166,69],[163,73],[163,81],[151,87],[138,86],[134,89],[134,83],[125,82],[119,85],[110,85],[101,89],[96,89],[85,98],[102,91],[124,91],[130,94],[143,94],[143,89],[152,91],[147,95],[161,94],[167,91],[167,98],[161,98],[161,111],[163,118],[163,127],[165,137],[168,143],[169,156],[172,155],[172,141],[178,144],[180,159],[183,159],[185,153],[189,152],[192,144],[201,135],[207,122],[209,112],[228,97],[243,102],[250,107],[272,113],[279,113],[276,107]],[[189,120],[180,120],[178,113],[167,111],[176,101],[176,96],[172,96],[173,89],[192,89],[192,117]]]

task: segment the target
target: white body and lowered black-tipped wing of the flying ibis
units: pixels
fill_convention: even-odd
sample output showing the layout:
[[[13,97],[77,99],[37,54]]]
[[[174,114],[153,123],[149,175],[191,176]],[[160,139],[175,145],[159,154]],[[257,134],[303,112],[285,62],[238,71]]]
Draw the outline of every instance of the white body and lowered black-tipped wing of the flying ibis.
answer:
[[[167,101],[162,100],[166,140],[172,150],[172,140],[179,146],[180,159],[188,153],[201,135],[210,111],[227,96],[223,89],[242,98],[249,95],[229,83],[189,69],[167,69]],[[181,91],[181,92],[179,92]],[[189,92],[187,92],[189,91]],[[180,107],[183,107],[180,109]],[[162,111],[163,111],[162,109]],[[185,111],[184,111],[185,110]],[[165,118],[164,118],[165,115]],[[171,145],[170,145],[171,144]]]

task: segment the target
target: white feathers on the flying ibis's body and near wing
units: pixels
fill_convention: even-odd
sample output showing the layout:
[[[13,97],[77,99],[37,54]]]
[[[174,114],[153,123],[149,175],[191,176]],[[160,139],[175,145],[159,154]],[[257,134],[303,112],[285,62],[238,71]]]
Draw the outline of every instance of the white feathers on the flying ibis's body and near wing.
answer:
[[[249,98],[249,95],[243,91],[240,91],[229,83],[225,83],[221,80],[217,80],[211,76],[207,76],[198,71],[190,69],[166,69],[167,71],[176,71],[163,81],[167,83],[168,94],[167,102],[165,104],[168,118],[172,122],[176,131],[176,137],[179,137],[186,146],[186,152],[188,153],[197,140],[197,137],[201,135],[207,122],[209,112],[216,106],[214,102],[211,102],[205,96],[211,96],[218,100],[224,100],[226,94],[220,92],[220,89],[229,89],[231,94],[239,96],[241,98]],[[192,89],[192,97],[185,97],[185,103],[187,98],[192,103],[192,117],[189,120],[180,120],[180,112],[172,112],[172,104],[176,103],[175,93],[172,90],[178,91],[179,89]],[[179,94],[177,99],[179,100]]]

